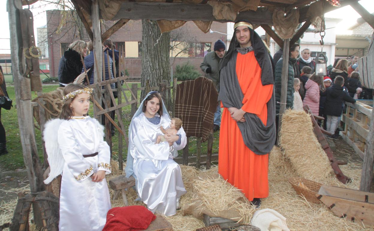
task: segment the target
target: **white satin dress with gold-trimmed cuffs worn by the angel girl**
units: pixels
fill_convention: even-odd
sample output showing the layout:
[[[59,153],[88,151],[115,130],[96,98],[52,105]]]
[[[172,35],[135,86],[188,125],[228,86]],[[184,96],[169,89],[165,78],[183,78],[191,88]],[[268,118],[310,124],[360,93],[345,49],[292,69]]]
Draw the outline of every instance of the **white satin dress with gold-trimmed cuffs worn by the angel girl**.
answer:
[[[74,117],[61,123],[58,144],[65,160],[60,191],[59,230],[102,230],[110,195],[105,178],[92,182],[91,175],[98,170],[111,173],[110,149],[103,140],[102,126],[96,119]],[[83,155],[94,154],[84,158]]]

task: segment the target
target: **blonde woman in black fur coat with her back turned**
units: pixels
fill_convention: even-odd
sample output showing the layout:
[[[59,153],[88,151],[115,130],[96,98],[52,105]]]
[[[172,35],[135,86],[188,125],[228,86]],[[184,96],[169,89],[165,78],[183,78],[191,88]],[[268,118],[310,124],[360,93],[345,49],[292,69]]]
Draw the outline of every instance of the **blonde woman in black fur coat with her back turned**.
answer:
[[[87,43],[82,40],[75,41],[69,45],[69,49],[64,52],[58,67],[58,82],[60,86],[72,83],[80,75],[83,63],[81,56],[87,55]]]

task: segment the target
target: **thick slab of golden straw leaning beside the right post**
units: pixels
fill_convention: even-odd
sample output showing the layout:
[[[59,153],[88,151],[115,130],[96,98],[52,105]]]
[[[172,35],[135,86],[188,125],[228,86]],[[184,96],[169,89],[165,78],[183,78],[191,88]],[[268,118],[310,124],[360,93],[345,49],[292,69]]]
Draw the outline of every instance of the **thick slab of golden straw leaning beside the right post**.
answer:
[[[297,176],[321,181],[332,175],[326,153],[314,134],[310,115],[288,109],[282,116],[281,147]]]

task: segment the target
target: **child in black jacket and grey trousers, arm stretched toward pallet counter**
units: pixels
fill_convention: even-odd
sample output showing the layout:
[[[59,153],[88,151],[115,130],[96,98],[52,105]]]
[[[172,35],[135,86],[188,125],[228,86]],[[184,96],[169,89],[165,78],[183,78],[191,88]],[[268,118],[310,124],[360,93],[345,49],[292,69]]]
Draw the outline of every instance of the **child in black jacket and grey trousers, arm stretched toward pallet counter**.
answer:
[[[343,91],[344,78],[341,76],[335,77],[334,83],[331,87],[325,91],[326,102],[325,102],[325,114],[327,115],[327,131],[332,135],[328,136],[329,139],[337,140],[338,134],[335,134],[335,130],[338,127],[341,112],[343,111],[344,101],[349,103],[356,103],[356,100],[350,97],[346,92]]]

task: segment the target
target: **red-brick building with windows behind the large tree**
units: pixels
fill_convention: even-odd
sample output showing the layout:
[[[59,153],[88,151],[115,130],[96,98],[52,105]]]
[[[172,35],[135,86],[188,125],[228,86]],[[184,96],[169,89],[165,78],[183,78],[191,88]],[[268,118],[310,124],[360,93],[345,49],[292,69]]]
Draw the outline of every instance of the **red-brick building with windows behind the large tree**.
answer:
[[[61,21],[60,10],[48,10],[47,11],[47,34],[48,38],[48,51],[49,51],[49,67],[50,76],[57,77],[58,64],[62,54],[66,51],[68,45],[79,38],[82,40],[89,41],[86,30],[82,26],[77,28],[73,23],[70,22],[70,18],[66,18],[66,25],[57,32],[59,22]],[[110,28],[113,25],[113,21],[107,21],[102,25],[102,32]],[[187,52],[180,53],[176,58],[172,57],[178,53],[178,49],[170,53],[170,63],[173,65],[173,72],[178,64],[189,63],[195,67],[202,75],[203,72],[200,70],[200,63],[202,63],[205,54],[213,50],[214,43],[221,39],[227,43],[227,36],[220,33],[227,33],[227,24],[213,22],[211,25],[212,31],[218,31],[220,33],[206,33],[204,34],[193,22],[186,22],[183,27],[178,28],[180,35],[173,37],[171,35],[171,44],[176,44],[180,40],[186,40],[183,46],[188,46]],[[82,31],[81,35],[79,31]],[[141,21],[130,20],[116,33],[114,33],[110,39],[116,44],[117,48],[123,47],[125,50],[125,66],[129,72],[131,78],[140,78],[141,76],[141,37],[142,37],[142,26]],[[183,39],[184,37],[184,39]],[[156,41],[155,41],[156,42]],[[183,49],[182,47],[180,49]],[[174,60],[175,59],[175,60]]]

